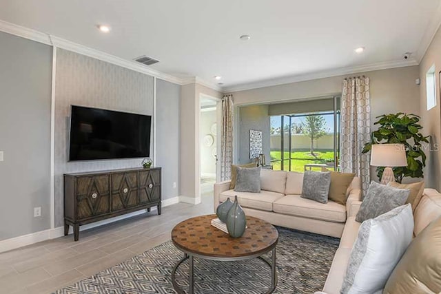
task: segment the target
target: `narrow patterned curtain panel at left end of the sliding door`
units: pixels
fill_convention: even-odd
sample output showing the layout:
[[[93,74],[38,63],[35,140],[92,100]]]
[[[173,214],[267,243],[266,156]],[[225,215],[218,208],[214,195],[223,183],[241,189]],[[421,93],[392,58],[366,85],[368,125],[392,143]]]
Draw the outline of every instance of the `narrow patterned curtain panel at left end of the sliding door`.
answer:
[[[220,147],[220,180],[229,180],[233,163],[233,95],[222,98],[222,138]]]

